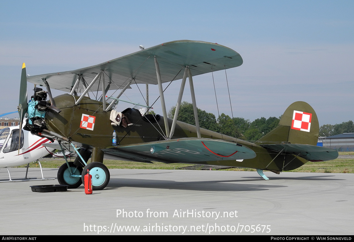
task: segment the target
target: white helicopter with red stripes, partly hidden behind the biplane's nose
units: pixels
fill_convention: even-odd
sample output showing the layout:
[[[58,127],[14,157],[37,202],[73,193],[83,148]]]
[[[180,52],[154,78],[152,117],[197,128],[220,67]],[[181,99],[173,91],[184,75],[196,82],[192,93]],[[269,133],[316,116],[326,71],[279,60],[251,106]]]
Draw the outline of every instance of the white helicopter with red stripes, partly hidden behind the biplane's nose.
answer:
[[[39,161],[38,164],[40,166],[42,178],[27,178],[29,163],[48,155],[53,151],[53,148],[43,146],[43,144],[51,143],[47,138],[32,135],[31,132],[23,129],[21,129],[20,134],[19,127],[20,126],[9,126],[0,129],[0,168],[6,168],[9,176],[9,179],[0,180],[0,182],[54,179],[45,179],[43,177],[42,165]],[[25,177],[12,179],[7,167],[25,164],[28,164]]]

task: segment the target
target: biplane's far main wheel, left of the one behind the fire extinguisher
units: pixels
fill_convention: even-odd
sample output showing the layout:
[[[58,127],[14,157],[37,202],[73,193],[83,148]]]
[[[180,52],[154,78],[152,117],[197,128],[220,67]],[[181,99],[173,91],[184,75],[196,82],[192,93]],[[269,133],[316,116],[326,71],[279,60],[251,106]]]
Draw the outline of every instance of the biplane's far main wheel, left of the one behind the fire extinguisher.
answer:
[[[69,166],[70,169],[68,165],[64,163],[59,168],[57,175],[58,182],[61,185],[68,185],[70,189],[78,188],[82,184],[81,177],[72,177],[72,175],[81,175],[82,167],[76,167],[73,162],[69,162]]]

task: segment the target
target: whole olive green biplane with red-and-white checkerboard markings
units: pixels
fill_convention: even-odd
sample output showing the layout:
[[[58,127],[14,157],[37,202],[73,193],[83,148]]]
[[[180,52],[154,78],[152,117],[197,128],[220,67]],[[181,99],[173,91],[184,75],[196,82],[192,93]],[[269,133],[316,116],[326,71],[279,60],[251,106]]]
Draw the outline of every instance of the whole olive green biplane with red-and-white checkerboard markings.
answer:
[[[279,174],[307,161],[332,160],[336,150],[315,146],[319,123],[313,108],[305,102],[291,104],[279,126],[255,143],[225,136],[199,127],[193,76],[226,70],[242,64],[234,50],[216,43],[180,40],[163,43],[136,53],[78,70],[30,76],[25,67],[21,78],[19,112],[25,128],[32,134],[80,147],[74,162],[58,170],[58,181],[77,188],[87,170],[93,189],[101,190],[109,182],[103,158],[150,163],[191,163],[249,167],[268,179],[263,170]],[[196,125],[177,120],[185,82],[189,79]],[[173,119],[167,118],[162,83],[182,79]],[[92,80],[90,82],[86,82]],[[36,84],[27,104],[27,81]],[[162,116],[141,113],[135,108],[122,112],[112,109],[115,99],[132,83],[157,84]],[[47,91],[38,88],[46,86]],[[50,88],[69,94],[52,98]],[[107,102],[110,89],[121,90]],[[89,90],[102,92],[101,100],[90,99]],[[81,93],[79,96],[78,93]],[[47,95],[49,100],[47,101]],[[148,107],[148,106],[147,106]],[[116,145],[112,133],[116,132]],[[61,148],[62,149],[62,148]],[[78,150],[78,148],[75,148]],[[92,153],[92,154],[91,154]],[[87,164],[91,158],[91,163]]]

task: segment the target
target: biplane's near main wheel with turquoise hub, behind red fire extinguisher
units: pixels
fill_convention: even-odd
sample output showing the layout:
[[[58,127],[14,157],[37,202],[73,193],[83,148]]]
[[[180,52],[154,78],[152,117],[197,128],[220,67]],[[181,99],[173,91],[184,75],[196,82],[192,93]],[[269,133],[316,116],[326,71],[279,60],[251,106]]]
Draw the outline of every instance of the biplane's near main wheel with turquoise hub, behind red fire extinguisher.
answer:
[[[109,171],[108,168],[101,162],[92,162],[84,167],[81,173],[81,180],[84,182],[84,177],[87,174],[87,169],[90,171],[92,176],[92,190],[102,190],[107,187],[109,182]]]

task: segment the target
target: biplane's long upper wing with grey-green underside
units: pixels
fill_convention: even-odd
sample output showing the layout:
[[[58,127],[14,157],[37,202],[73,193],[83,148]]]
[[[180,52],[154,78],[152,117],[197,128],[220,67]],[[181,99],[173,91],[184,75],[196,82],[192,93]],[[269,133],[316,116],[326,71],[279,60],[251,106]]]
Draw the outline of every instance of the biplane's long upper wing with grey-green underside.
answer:
[[[162,82],[181,79],[183,66],[189,66],[192,76],[196,76],[237,67],[243,62],[239,53],[217,43],[179,40],[82,69],[29,76],[27,81],[43,85],[43,79],[46,79],[52,89],[70,92],[79,75],[91,82],[97,73],[103,71],[104,82],[107,83],[105,87],[110,83],[109,89],[120,89],[131,79],[135,79],[137,83],[157,84],[154,57],[160,66]],[[80,83],[78,90],[84,89]],[[92,86],[92,90],[101,89],[98,82]]]

